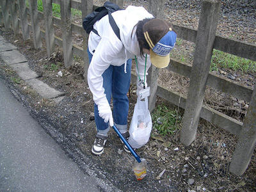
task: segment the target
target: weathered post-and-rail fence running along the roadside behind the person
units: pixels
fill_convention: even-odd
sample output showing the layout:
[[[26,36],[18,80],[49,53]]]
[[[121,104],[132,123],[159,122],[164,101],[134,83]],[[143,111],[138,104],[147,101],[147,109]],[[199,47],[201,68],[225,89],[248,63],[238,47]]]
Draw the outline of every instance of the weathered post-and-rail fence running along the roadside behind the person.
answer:
[[[32,36],[35,49],[42,47],[41,38],[45,38],[48,56],[51,56],[51,53],[54,51],[55,44],[63,47],[65,67],[72,65],[73,54],[81,56],[84,60],[84,77],[86,77],[88,70],[88,55],[86,53],[88,35],[84,33],[82,26],[71,22],[71,8],[81,10],[82,17],[84,17],[95,8],[92,0],[42,0],[44,12],[37,10],[36,0],[29,0],[29,8],[26,8],[25,0],[0,1],[0,18],[4,20],[5,28],[12,28],[14,33],[18,33],[19,28],[21,28],[24,40],[28,40],[30,38],[30,32],[33,32]],[[123,7],[122,0],[113,2]],[[52,3],[60,4],[61,19],[52,16]],[[163,8],[163,0],[148,0],[148,11],[155,17],[163,18],[163,15],[161,15],[163,14],[163,11],[161,11]],[[195,140],[200,117],[239,136],[237,147],[230,163],[230,172],[241,175],[250,163],[256,143],[256,88],[254,87],[253,90],[248,86],[242,86],[225,77],[213,74],[209,72],[209,67],[211,64],[212,49],[218,49],[256,61],[256,46],[216,36],[219,15],[220,1],[204,0],[202,1],[197,31],[182,26],[173,26],[179,38],[194,42],[196,45],[192,67],[186,63],[172,59],[168,67],[169,71],[190,78],[188,98],[184,98],[179,93],[170,92],[157,85],[159,72],[153,66],[148,71],[148,85],[152,90],[149,106],[150,110],[154,109],[157,95],[185,109],[180,134],[180,141],[184,145],[190,145]],[[28,17],[30,17],[30,23],[28,22]],[[39,26],[40,19],[44,19],[45,30]],[[62,38],[54,35],[54,25],[61,26]],[[72,33],[83,36],[83,47],[72,44]],[[136,76],[132,74],[132,82],[135,81]],[[204,106],[203,99],[206,86],[250,102],[244,122],[239,122],[230,116]]]

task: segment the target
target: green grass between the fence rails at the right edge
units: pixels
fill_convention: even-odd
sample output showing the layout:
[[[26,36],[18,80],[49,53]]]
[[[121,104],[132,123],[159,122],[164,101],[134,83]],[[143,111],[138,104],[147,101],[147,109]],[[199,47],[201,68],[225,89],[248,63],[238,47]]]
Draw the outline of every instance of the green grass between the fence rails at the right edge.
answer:
[[[242,70],[243,72],[256,72],[256,62],[228,54],[226,52],[213,50],[211,71],[218,68],[230,68],[232,70]]]

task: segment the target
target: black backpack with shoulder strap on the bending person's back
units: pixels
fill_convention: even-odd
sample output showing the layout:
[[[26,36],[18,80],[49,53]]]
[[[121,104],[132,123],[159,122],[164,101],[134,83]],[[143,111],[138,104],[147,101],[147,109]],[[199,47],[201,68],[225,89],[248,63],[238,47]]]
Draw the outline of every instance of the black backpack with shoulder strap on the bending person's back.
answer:
[[[118,26],[116,25],[116,22],[111,15],[111,13],[116,12],[118,10],[122,10],[117,4],[111,3],[109,1],[106,1],[103,6],[100,6],[97,8],[94,12],[90,13],[83,19],[83,28],[86,31],[86,33],[90,33],[93,31],[93,33],[98,34],[97,30],[93,29],[93,24],[97,22],[97,20],[100,20],[105,15],[109,16],[109,24],[113,28],[113,31],[115,32],[116,36],[121,40],[120,38],[120,30]]]

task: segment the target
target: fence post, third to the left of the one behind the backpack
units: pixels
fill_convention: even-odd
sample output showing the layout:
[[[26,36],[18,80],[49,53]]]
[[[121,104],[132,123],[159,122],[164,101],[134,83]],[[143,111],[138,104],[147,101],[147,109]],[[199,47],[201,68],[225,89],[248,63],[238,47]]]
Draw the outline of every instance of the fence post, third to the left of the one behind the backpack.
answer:
[[[40,49],[42,47],[41,31],[38,20],[37,11],[37,1],[30,0],[30,17],[31,17],[31,27],[33,32],[33,43],[35,49]]]

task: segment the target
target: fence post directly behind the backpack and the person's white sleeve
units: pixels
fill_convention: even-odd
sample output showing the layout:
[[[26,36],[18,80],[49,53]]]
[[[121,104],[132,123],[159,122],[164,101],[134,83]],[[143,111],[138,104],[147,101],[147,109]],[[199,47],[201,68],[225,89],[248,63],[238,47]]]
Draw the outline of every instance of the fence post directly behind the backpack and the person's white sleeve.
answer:
[[[81,0],[81,10],[82,10],[82,21],[86,15],[92,12],[93,10],[93,0]],[[88,72],[88,67],[89,67],[89,59],[88,59],[88,54],[87,54],[87,47],[88,47],[88,34],[86,31],[83,33],[83,49],[84,49],[84,55],[83,55],[83,60],[84,60],[84,81],[87,82],[87,72]]]

